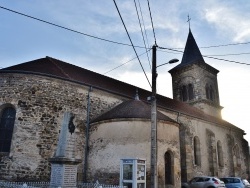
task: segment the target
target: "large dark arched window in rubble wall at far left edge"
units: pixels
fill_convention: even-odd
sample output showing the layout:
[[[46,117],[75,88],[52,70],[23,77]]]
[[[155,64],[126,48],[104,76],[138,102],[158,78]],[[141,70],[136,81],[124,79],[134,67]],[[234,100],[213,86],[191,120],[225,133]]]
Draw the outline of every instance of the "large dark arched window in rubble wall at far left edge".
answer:
[[[4,108],[0,119],[0,152],[10,152],[12,133],[16,110],[12,107]]]

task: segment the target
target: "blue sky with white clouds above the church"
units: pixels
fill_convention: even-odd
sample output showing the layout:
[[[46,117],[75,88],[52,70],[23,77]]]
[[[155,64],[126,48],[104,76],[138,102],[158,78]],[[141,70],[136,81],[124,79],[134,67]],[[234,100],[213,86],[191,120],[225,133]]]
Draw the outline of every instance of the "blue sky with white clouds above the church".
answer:
[[[175,50],[158,48],[157,65],[181,61],[190,24],[202,55],[213,57],[205,62],[220,71],[223,119],[250,142],[249,10],[248,0],[0,0],[0,68],[50,56],[150,91],[145,46]],[[176,65],[157,68],[158,94],[172,98]]]

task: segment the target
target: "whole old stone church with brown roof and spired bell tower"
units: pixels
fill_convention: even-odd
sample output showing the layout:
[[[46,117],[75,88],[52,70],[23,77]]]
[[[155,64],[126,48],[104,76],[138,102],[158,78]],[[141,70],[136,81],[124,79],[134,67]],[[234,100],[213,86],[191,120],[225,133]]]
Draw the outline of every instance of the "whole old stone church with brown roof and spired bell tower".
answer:
[[[244,130],[221,118],[219,71],[189,30],[169,71],[173,99],[157,95],[158,187],[196,175],[249,175]],[[74,114],[78,180],[119,184],[120,159],[146,159],[150,182],[151,92],[45,57],[0,70],[0,179],[49,181],[65,113]]]

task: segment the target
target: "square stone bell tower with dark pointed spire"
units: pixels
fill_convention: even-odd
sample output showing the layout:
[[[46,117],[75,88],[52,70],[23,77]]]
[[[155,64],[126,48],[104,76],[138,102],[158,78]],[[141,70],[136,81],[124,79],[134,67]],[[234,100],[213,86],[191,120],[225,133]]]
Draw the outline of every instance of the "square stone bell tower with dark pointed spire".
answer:
[[[171,69],[173,98],[205,113],[221,117],[217,74],[219,71],[205,63],[189,29],[181,63]]]

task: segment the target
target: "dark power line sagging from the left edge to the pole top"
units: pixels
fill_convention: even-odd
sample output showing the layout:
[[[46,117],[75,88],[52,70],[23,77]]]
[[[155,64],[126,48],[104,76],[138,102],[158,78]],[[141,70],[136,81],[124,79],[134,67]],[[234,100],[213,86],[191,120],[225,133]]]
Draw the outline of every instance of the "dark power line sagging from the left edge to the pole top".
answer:
[[[67,27],[64,27],[64,26],[61,26],[61,25],[58,25],[58,24],[54,24],[52,22],[45,21],[45,20],[42,20],[40,18],[36,18],[36,17],[33,17],[33,16],[29,16],[27,14],[17,12],[15,10],[11,10],[11,9],[8,9],[8,8],[2,7],[2,6],[0,6],[0,8],[4,9],[4,10],[7,10],[7,11],[10,11],[10,12],[13,12],[13,13],[16,13],[16,14],[19,14],[19,15],[22,15],[22,16],[25,16],[25,17],[28,17],[28,18],[31,18],[31,19],[34,19],[34,20],[37,20],[37,21],[40,21],[40,22],[43,22],[43,23],[46,23],[46,24],[49,24],[49,25],[53,25],[55,27],[59,27],[61,29],[65,29],[65,30],[68,30],[68,31],[71,31],[71,32],[74,32],[74,33],[85,35],[87,37],[91,37],[91,38],[94,38],[94,39],[98,39],[98,40],[102,40],[102,41],[110,42],[110,43],[114,43],[114,44],[119,44],[119,45],[124,45],[124,46],[131,46],[131,44],[125,44],[125,43],[121,43],[121,42],[117,42],[117,41],[112,41],[112,40],[104,39],[104,38],[97,37],[97,36],[94,36],[94,35],[90,35],[90,34],[87,34],[87,33],[83,33],[83,32],[80,32],[80,31],[76,31],[74,29],[70,29],[70,28],[67,28]],[[134,47],[145,48],[145,47],[141,47],[141,46],[134,46]]]

